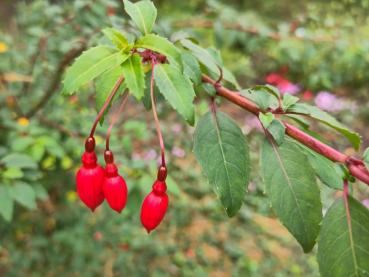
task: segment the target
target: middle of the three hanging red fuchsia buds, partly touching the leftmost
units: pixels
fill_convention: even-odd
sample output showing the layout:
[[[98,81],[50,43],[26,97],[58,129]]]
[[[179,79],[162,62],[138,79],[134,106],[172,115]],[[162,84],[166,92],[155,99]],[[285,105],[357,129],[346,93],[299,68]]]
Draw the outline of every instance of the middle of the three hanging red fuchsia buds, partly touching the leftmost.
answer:
[[[103,182],[103,192],[109,206],[120,213],[127,203],[127,185],[122,176],[118,174],[118,169],[113,162],[111,151],[105,151],[105,179]]]

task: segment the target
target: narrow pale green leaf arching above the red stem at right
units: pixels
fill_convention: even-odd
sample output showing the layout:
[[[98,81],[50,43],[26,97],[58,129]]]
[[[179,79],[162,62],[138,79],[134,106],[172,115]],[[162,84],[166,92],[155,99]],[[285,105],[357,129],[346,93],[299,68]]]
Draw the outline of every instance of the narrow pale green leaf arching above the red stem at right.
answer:
[[[351,131],[349,128],[344,126],[342,123],[338,122],[333,116],[330,114],[320,110],[315,106],[311,106],[308,104],[296,103],[288,109],[289,112],[297,112],[308,115],[321,123],[328,125],[329,127],[337,130],[339,133],[344,135],[352,144],[355,149],[360,148],[361,138],[360,135],[354,131]]]

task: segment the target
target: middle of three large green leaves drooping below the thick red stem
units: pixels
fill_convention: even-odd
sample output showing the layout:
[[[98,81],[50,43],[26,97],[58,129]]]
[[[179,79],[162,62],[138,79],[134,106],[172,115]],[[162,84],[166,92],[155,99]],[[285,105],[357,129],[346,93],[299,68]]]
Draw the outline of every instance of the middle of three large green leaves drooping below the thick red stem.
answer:
[[[265,139],[261,170],[272,207],[284,226],[302,246],[312,250],[319,233],[322,204],[314,171],[291,140],[277,147]]]

